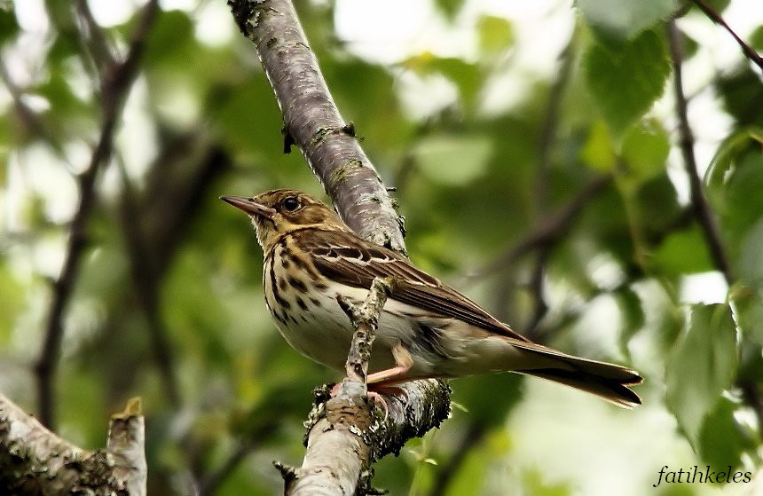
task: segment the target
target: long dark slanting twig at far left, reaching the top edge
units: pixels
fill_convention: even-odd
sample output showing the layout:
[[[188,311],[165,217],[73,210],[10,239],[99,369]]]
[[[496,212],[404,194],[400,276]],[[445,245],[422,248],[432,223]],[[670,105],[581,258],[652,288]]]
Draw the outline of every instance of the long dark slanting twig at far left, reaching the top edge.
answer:
[[[85,169],[79,178],[79,206],[70,227],[66,260],[61,269],[59,279],[53,284],[53,295],[45,325],[43,350],[35,365],[40,420],[47,426],[51,426],[55,420],[53,378],[59,365],[61,341],[63,340],[64,329],[62,319],[74,289],[76,272],[79,269],[81,256],[86,244],[85,231],[87,221],[90,218],[90,212],[95,203],[96,196],[95,180],[98,175],[98,169],[111,156],[117,116],[131,83],[137,75],[138,59],[143,52],[146,34],[153,24],[153,19],[156,12],[158,12],[158,8],[157,0],[151,0],[146,4],[143,12],[141,12],[138,28],[135,35],[133,35],[127,57],[121,64],[109,71],[108,83],[106,85],[107,91],[102,95],[103,124],[100,137],[98,138],[98,144],[90,156],[88,168]]]

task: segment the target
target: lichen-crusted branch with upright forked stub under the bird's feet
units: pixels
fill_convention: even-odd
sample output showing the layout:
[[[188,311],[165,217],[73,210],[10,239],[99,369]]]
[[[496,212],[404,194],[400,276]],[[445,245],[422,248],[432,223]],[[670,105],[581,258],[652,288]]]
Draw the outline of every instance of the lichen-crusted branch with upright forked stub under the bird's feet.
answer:
[[[356,328],[345,366],[347,376],[336,397],[319,402],[313,411],[311,418],[318,420],[308,431],[302,467],[277,465],[288,496],[365,494],[375,460],[397,453],[408,437],[421,436],[447,417],[450,401],[440,394],[438,381],[403,384],[403,399],[385,397],[384,418],[371,414],[366,397],[368,359],[381,309],[394,284],[393,279],[374,279],[362,305],[337,296]]]

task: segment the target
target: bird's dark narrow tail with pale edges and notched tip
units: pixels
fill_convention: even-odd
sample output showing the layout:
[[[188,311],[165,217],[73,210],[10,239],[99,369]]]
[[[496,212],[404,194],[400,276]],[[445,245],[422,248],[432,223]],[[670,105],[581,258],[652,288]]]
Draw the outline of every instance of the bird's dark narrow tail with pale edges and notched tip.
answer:
[[[514,343],[525,353],[535,354],[538,367],[515,370],[520,374],[534,375],[549,381],[571,386],[606,399],[623,408],[641,405],[639,395],[629,386],[639,384],[641,375],[624,366],[573,357],[535,343]]]

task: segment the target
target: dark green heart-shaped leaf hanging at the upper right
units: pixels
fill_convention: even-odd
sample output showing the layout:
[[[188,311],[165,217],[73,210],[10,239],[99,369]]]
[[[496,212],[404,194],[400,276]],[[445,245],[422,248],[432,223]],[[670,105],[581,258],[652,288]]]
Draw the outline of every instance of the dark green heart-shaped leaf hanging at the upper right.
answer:
[[[662,95],[670,74],[665,40],[656,31],[619,45],[591,43],[583,64],[588,89],[616,138]]]

